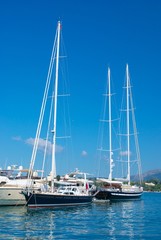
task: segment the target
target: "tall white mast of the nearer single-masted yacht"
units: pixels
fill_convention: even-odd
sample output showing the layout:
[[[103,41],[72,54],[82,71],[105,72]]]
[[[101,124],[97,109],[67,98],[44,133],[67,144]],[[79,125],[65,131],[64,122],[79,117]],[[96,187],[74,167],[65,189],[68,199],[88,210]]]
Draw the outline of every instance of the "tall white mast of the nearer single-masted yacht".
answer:
[[[58,97],[58,71],[59,71],[59,49],[60,49],[60,30],[61,24],[58,22],[57,27],[57,50],[56,50],[56,72],[55,72],[55,89],[53,93],[54,97],[54,125],[53,125],[53,147],[52,147],[52,191],[54,189],[54,177],[56,177],[56,162],[55,162],[55,150],[56,150],[56,120],[57,120],[57,97]]]

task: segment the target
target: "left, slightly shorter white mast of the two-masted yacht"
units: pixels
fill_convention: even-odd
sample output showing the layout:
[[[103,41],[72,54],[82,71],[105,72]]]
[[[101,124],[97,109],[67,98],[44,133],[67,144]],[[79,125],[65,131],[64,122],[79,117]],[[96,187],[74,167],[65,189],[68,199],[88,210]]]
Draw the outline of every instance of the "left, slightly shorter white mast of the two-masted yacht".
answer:
[[[111,111],[111,79],[110,79],[110,68],[108,68],[108,96],[109,96],[109,157],[110,157],[110,173],[109,180],[112,180],[113,171],[113,159],[112,159],[112,111]]]

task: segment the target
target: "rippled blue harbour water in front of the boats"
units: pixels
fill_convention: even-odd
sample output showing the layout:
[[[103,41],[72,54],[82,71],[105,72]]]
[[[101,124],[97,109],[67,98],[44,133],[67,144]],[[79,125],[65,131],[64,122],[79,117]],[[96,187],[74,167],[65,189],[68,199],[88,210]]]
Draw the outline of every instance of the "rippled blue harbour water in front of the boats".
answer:
[[[0,207],[0,239],[161,239],[161,193],[65,209]]]

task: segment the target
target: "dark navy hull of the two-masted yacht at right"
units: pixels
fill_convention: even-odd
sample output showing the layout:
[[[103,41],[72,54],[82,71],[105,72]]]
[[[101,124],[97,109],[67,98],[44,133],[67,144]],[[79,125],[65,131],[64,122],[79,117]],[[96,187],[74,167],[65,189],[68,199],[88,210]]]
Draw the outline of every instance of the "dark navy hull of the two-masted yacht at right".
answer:
[[[125,200],[137,200],[141,197],[142,191],[140,192],[116,192],[116,191],[107,191],[100,190],[95,198],[97,199],[109,199],[112,201],[125,201]]]

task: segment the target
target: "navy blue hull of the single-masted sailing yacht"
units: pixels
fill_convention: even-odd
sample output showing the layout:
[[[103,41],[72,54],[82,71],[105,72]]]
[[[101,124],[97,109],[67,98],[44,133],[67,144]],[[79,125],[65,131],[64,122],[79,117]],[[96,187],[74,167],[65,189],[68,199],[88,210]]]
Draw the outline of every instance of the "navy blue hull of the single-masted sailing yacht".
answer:
[[[86,195],[57,195],[47,193],[33,193],[25,195],[27,206],[29,208],[43,208],[43,207],[61,207],[61,206],[74,206],[84,205],[92,202],[92,196]]]

